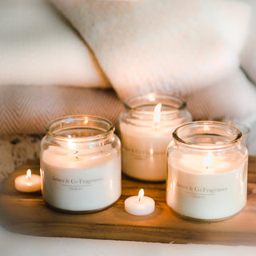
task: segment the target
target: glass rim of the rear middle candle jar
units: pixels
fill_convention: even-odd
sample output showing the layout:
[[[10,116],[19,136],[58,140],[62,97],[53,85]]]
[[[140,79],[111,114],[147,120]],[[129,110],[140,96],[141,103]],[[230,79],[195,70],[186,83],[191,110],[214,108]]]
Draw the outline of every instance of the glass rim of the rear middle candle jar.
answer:
[[[186,101],[182,97],[158,92],[131,96],[126,98],[123,105],[128,111],[140,114],[152,114],[152,110],[140,110],[139,107],[156,106],[158,103],[162,103],[162,106],[172,108],[171,110],[162,110],[162,113],[164,114],[173,114],[177,110],[186,109]]]

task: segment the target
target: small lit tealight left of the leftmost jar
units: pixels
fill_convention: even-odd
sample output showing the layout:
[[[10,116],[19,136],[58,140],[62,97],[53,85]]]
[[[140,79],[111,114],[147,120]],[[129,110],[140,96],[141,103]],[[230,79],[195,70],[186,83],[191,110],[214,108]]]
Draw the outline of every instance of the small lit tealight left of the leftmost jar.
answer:
[[[37,174],[31,174],[31,170],[28,169],[26,175],[15,178],[14,185],[20,192],[36,192],[41,190],[41,178]]]

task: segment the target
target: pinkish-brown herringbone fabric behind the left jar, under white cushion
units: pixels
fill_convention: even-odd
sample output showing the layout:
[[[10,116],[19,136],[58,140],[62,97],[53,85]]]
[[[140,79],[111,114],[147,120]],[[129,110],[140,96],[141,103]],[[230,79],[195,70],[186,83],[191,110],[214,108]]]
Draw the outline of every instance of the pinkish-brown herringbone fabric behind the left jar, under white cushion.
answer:
[[[44,134],[48,122],[91,114],[117,122],[123,110],[114,90],[74,86],[0,86],[1,134]]]

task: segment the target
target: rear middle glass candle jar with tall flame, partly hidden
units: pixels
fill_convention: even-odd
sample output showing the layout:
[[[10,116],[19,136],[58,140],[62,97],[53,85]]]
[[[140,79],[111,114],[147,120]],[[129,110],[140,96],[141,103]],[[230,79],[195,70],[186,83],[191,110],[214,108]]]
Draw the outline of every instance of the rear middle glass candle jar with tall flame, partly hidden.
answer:
[[[169,94],[128,98],[119,117],[122,171],[146,181],[166,180],[166,150],[173,130],[191,121],[186,102]]]

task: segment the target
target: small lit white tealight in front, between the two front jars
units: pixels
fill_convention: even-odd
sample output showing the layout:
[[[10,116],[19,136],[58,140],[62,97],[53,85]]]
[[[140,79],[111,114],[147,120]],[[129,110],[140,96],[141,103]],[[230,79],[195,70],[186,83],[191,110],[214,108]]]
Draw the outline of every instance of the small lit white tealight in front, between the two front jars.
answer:
[[[125,201],[125,210],[133,215],[146,215],[154,212],[154,199],[144,196],[144,190],[139,190],[138,196],[132,196]]]

